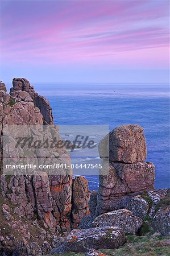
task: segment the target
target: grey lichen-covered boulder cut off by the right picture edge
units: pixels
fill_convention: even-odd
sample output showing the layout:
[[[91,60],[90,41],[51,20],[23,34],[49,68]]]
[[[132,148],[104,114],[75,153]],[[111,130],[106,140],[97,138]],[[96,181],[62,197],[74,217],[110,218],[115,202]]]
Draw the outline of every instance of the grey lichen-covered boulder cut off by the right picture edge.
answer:
[[[170,205],[156,212],[152,219],[154,229],[163,236],[170,235]]]

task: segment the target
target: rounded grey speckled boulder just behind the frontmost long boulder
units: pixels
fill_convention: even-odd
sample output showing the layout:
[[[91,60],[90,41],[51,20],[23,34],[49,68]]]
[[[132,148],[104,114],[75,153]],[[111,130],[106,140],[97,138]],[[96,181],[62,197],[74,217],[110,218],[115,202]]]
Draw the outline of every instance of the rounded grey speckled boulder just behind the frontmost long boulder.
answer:
[[[118,226],[125,233],[136,234],[140,226],[142,226],[142,219],[135,216],[130,210],[119,209],[103,213],[92,222],[93,228],[109,225]]]

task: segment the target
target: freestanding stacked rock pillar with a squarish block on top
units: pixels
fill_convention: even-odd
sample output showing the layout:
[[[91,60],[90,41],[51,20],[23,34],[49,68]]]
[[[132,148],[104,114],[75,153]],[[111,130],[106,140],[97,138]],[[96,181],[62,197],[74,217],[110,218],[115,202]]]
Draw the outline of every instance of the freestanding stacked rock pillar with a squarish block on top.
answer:
[[[134,201],[140,201],[147,213],[148,205],[139,194],[154,187],[155,167],[144,162],[147,150],[143,128],[139,125],[115,128],[99,143],[99,155],[103,162],[99,173],[96,216],[121,208],[134,212]],[[106,158],[109,158],[109,163]],[[138,216],[138,212],[134,213]]]

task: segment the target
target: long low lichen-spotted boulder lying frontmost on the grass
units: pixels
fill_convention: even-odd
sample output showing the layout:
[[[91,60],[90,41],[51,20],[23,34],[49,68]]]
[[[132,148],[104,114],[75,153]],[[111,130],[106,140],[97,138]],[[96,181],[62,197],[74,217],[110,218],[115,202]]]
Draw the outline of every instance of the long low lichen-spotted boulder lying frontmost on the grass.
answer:
[[[115,226],[107,226],[92,229],[74,229],[66,238],[63,245],[51,251],[55,253],[69,253],[73,251],[86,252],[90,248],[115,249],[125,243],[125,232]]]

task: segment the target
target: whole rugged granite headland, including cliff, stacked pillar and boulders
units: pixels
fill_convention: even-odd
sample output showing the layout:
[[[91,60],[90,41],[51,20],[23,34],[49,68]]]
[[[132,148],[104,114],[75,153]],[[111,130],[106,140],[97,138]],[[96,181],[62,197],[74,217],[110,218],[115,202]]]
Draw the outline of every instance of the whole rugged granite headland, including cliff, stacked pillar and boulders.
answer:
[[[10,94],[0,83],[0,122],[1,136],[5,125],[45,125],[45,138],[61,139],[49,102],[26,79],[14,79]],[[64,146],[45,154],[71,162]],[[145,162],[143,128],[115,128],[99,143],[99,156],[99,190],[91,193],[88,181],[73,179],[72,170],[60,170],[61,175],[1,172],[0,255],[119,255],[118,248],[126,248],[131,237],[136,241],[155,232],[167,236],[168,246],[170,191],[154,188],[155,167]]]

